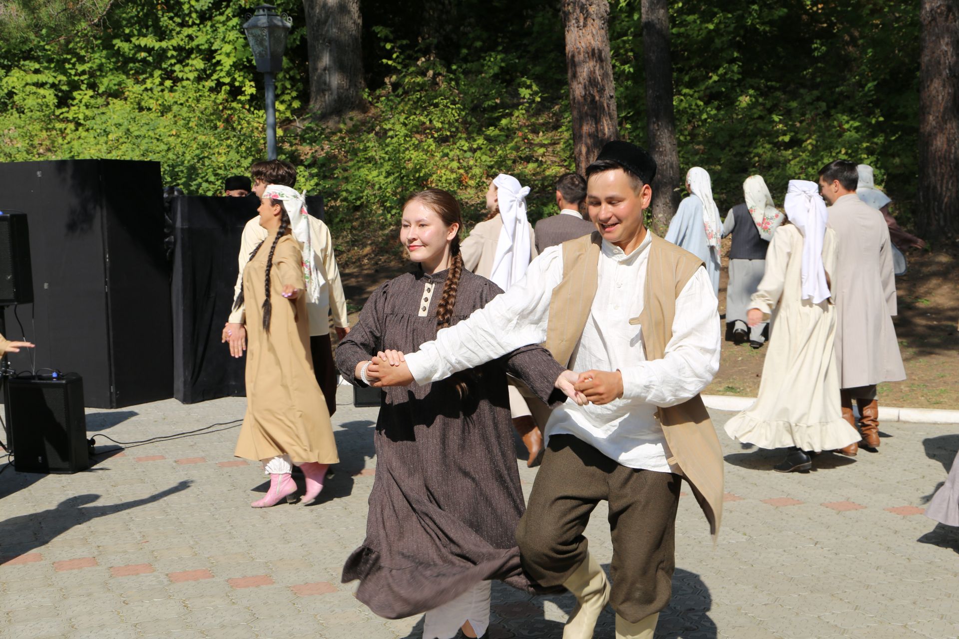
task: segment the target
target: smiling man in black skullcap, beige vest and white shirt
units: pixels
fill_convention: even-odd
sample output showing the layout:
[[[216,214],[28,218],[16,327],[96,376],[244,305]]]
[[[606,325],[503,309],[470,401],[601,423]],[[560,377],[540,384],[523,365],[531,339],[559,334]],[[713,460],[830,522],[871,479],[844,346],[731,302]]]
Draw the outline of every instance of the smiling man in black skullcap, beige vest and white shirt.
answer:
[[[617,637],[652,639],[669,602],[681,477],[713,535],[721,517],[722,452],[699,398],[719,368],[716,298],[701,260],[643,226],[655,174],[642,148],[607,144],[586,170],[592,236],[548,248],[485,308],[367,369],[374,385],[405,385],[530,344],[556,358],[543,375],[573,401],[553,406],[516,539],[534,580],[576,596],[566,639],[592,637],[608,602]],[[583,536],[604,500],[612,587]]]

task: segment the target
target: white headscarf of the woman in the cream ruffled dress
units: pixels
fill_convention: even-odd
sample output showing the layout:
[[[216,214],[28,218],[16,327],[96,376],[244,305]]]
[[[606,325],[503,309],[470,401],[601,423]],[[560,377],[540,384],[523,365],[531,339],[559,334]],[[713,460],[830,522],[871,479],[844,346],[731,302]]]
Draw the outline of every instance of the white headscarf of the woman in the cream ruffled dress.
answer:
[[[803,234],[803,299],[819,304],[830,298],[823,266],[823,238],[826,236],[826,202],[819,185],[807,180],[789,180],[785,193],[785,215]]]

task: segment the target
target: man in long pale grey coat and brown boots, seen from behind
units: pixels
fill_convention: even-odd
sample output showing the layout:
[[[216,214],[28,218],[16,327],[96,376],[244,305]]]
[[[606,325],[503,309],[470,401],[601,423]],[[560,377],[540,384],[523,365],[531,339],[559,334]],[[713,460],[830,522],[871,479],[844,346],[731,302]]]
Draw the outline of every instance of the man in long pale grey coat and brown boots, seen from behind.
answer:
[[[820,191],[830,204],[829,225],[839,246],[831,290],[842,414],[855,427],[855,400],[862,426],[858,445],[875,449],[876,385],[905,379],[905,369],[892,320],[897,308],[889,227],[882,214],[855,194],[858,180],[855,163],[847,160],[835,160],[819,171]],[[854,456],[858,445],[840,452]]]

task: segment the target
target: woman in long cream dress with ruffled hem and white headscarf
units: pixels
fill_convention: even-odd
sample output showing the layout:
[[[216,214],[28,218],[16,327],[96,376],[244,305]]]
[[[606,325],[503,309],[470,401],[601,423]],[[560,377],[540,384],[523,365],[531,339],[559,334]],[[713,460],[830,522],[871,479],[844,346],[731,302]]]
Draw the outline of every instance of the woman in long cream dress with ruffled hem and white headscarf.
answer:
[[[747,314],[750,325],[772,316],[760,394],[726,422],[726,432],[760,448],[788,447],[775,469],[790,472],[812,468],[809,452],[842,448],[861,436],[840,411],[829,280],[836,240],[826,227],[818,185],[790,180],[785,213],[788,222],[769,244],[765,274]]]

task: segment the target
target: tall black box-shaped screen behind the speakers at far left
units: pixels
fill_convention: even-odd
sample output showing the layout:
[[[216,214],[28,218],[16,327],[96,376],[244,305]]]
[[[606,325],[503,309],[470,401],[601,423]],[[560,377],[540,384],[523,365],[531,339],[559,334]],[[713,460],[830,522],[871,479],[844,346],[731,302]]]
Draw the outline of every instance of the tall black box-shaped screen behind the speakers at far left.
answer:
[[[0,210],[30,219],[34,305],[19,309],[26,334],[15,337],[36,344],[36,367],[82,375],[92,407],[173,397],[159,163],[2,163],[0,184],[16,187]],[[6,319],[19,329],[10,308]]]

